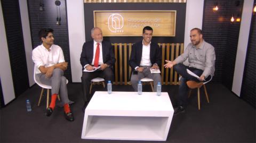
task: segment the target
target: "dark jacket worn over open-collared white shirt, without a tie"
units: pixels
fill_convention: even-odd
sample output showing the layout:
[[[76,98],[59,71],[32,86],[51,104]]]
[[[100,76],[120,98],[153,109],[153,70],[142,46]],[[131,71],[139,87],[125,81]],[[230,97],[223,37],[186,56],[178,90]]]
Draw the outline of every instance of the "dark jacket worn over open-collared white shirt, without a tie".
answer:
[[[134,70],[136,66],[140,66],[141,56],[142,41],[132,45],[132,52],[129,60],[129,65],[132,67],[132,70]],[[159,67],[161,67],[162,53],[161,49],[156,43],[150,44],[150,62],[152,65],[156,63]]]

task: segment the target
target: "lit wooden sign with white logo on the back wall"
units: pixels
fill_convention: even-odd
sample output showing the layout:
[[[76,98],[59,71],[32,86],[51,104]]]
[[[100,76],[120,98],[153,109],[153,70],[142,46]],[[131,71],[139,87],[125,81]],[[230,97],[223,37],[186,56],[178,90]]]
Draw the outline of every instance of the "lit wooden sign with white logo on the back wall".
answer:
[[[176,11],[93,11],[94,27],[103,36],[141,36],[146,26],[153,36],[175,36]]]

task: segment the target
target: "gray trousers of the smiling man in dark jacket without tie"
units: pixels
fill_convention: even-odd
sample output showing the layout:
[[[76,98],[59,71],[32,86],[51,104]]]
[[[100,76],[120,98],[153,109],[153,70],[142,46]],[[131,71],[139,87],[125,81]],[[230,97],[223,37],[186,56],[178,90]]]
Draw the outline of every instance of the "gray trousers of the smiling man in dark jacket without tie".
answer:
[[[145,68],[142,72],[138,72],[138,74],[133,74],[131,76],[132,87],[135,91],[138,91],[138,81],[143,78],[150,78],[154,80],[154,91],[156,91],[157,83],[161,82],[160,73],[151,73],[151,66],[143,66]]]

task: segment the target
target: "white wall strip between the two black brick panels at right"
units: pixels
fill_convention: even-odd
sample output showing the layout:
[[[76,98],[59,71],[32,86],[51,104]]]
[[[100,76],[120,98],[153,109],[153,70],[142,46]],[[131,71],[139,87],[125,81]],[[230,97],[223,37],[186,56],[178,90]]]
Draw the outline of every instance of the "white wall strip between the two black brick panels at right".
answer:
[[[242,21],[240,25],[235,72],[233,77],[232,91],[240,97],[243,81],[246,51],[249,41],[250,26],[252,19],[253,0],[244,1]]]

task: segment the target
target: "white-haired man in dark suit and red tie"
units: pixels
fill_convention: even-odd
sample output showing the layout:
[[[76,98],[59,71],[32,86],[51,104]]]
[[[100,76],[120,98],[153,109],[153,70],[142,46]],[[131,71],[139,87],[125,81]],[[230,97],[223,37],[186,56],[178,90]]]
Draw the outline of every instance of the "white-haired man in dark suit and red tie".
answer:
[[[83,50],[80,57],[80,62],[83,67],[82,86],[84,107],[83,112],[90,102],[91,96],[89,94],[90,82],[93,78],[101,77],[107,81],[113,81],[114,73],[111,68],[115,64],[115,55],[111,44],[108,41],[103,41],[102,30],[95,27],[91,30],[93,40],[84,43]],[[92,71],[100,67],[99,70]]]

